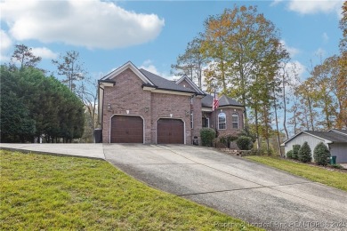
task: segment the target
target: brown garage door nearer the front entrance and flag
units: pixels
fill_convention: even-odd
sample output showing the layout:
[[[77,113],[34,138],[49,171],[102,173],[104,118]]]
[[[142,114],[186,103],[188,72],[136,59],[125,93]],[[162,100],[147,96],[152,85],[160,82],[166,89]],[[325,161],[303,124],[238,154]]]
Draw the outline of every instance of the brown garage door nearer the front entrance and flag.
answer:
[[[184,144],[184,124],[177,119],[159,119],[157,121],[158,144]]]

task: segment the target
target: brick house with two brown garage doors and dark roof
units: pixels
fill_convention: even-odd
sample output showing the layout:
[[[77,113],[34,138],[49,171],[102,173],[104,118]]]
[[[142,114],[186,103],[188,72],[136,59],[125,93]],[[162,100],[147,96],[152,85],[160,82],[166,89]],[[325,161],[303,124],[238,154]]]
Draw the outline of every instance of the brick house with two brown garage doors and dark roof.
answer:
[[[243,129],[241,104],[222,96],[213,111],[212,101],[187,76],[169,81],[129,61],[99,80],[102,142],[200,144],[202,127],[217,125],[221,135]]]

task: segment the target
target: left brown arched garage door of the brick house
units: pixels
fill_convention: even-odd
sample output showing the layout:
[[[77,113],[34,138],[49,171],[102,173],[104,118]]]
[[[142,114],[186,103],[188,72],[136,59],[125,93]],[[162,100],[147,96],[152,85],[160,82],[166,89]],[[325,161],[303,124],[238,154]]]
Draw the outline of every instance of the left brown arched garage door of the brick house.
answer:
[[[140,116],[113,116],[111,143],[143,143],[143,120]]]

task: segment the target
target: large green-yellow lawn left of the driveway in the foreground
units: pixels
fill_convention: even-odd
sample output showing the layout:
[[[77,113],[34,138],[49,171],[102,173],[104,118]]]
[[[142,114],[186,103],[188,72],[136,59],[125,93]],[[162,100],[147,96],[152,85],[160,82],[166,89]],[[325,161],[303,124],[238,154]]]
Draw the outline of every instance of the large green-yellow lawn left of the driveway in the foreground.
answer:
[[[1,230],[259,230],[105,161],[0,150]]]

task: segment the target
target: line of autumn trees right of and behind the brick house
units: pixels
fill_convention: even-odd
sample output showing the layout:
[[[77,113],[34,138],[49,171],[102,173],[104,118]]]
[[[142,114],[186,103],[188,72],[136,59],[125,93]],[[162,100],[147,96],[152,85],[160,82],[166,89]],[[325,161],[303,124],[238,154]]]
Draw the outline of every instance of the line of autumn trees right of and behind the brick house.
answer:
[[[199,88],[204,76],[206,92],[217,90],[239,100],[246,106],[246,133],[255,134],[257,149],[264,144],[267,153],[273,138],[279,152],[283,139],[299,131],[346,128],[346,8],[344,2],[341,53],[312,67],[305,80],[278,28],[256,6],[234,6],[209,16],[204,31],[177,57],[172,74],[189,76]]]

